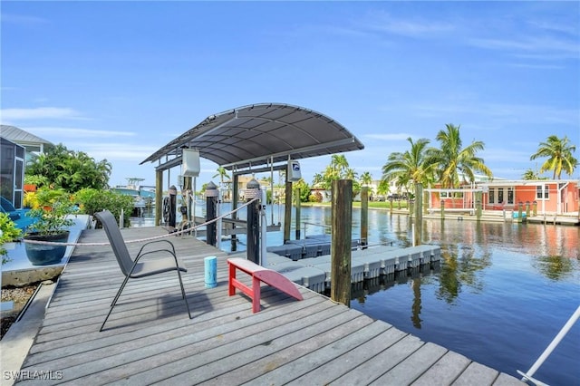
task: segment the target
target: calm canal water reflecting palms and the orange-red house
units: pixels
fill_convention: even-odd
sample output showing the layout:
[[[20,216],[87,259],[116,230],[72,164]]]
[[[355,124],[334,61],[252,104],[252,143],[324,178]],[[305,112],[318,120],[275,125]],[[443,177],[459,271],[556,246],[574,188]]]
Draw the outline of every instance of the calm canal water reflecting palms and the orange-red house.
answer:
[[[222,213],[228,210],[224,204]],[[198,214],[203,211],[199,207]],[[240,214],[240,218],[246,218]],[[283,216],[268,207],[268,224]],[[360,237],[353,209],[353,238]],[[301,236],[328,232],[330,207],[302,207]],[[315,225],[314,225],[315,224]],[[292,225],[295,238],[295,220]],[[424,220],[423,243],[441,247],[439,265],[353,287],[351,307],[423,341],[518,376],[580,305],[580,227]],[[283,233],[270,232],[268,246]],[[406,215],[369,210],[369,244],[411,246]],[[231,243],[222,243],[227,250]],[[240,236],[237,250],[245,250]],[[551,385],[580,385],[580,322],[536,372]]]

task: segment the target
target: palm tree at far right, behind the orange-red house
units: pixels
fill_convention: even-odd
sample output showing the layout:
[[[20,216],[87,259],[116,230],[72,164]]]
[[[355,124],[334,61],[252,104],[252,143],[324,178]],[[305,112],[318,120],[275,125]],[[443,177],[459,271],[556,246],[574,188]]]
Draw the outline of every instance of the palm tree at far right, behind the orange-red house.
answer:
[[[547,157],[546,162],[540,167],[540,173],[554,170],[553,179],[560,179],[562,171],[571,176],[578,166],[578,160],[572,155],[576,147],[569,142],[566,136],[560,139],[556,135],[550,135],[546,142],[540,142],[536,153],[532,154],[529,159]]]

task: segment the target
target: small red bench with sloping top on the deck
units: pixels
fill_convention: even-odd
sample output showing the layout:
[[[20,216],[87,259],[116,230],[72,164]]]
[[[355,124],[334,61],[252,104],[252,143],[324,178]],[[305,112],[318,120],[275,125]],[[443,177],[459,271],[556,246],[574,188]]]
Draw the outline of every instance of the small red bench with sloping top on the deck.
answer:
[[[252,299],[252,313],[260,311],[260,282],[271,285],[295,299],[302,300],[302,294],[285,275],[272,269],[257,265],[249,260],[233,257],[227,259],[229,268],[229,282],[227,292],[230,296],[236,294],[236,288],[247,294]],[[240,270],[252,276],[252,286],[249,287],[236,278],[236,271]]]

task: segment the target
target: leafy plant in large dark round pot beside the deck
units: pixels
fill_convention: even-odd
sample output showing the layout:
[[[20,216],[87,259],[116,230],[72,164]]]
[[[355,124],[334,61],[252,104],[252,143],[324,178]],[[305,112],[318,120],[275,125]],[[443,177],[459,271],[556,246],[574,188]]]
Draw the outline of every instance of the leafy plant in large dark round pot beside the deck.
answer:
[[[50,243],[66,243],[69,230],[74,224],[68,215],[75,211],[68,194],[53,198],[51,202],[42,203],[31,209],[26,216],[35,217],[24,234],[26,256],[33,265],[51,265],[60,263],[66,252],[66,246]],[[29,243],[26,241],[34,241]]]

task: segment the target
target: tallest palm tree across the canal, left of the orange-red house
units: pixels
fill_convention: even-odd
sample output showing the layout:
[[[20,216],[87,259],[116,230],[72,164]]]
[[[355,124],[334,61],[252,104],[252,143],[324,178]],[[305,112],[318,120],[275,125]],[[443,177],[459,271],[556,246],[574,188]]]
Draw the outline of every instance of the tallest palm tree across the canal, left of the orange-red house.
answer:
[[[481,140],[474,140],[462,148],[460,126],[446,124],[444,130],[437,133],[436,139],[440,142],[440,149],[430,150],[430,155],[438,165],[438,174],[443,188],[459,188],[459,174],[464,182],[475,181],[475,172],[479,171],[489,178],[493,173],[477,157],[478,150],[484,150],[485,144]]]

